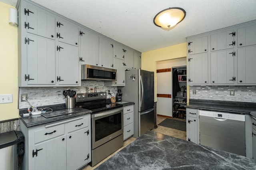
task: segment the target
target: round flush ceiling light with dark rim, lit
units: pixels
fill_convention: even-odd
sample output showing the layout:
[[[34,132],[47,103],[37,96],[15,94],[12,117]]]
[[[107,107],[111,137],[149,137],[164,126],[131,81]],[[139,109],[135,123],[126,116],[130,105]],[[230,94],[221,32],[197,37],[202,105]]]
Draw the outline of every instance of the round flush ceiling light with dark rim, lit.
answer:
[[[180,23],[186,16],[186,11],[182,8],[167,8],[156,14],[154,24],[162,28],[171,28]]]

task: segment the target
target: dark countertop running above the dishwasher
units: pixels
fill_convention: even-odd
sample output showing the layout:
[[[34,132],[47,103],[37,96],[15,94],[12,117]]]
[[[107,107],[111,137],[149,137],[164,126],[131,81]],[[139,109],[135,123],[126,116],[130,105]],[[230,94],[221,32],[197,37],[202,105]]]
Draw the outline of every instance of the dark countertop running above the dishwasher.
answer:
[[[232,101],[211,101],[211,100],[198,100],[190,99],[185,107],[208,110],[220,111],[238,114],[250,114],[256,111],[256,103],[245,102],[232,102]]]

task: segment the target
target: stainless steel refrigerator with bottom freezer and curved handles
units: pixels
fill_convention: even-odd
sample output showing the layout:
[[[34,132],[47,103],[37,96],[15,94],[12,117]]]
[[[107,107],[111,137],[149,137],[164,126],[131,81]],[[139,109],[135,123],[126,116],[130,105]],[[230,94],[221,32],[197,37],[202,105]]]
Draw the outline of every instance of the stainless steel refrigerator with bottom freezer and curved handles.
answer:
[[[134,137],[138,138],[155,126],[154,72],[142,69],[125,71],[125,86],[122,101],[134,105]]]

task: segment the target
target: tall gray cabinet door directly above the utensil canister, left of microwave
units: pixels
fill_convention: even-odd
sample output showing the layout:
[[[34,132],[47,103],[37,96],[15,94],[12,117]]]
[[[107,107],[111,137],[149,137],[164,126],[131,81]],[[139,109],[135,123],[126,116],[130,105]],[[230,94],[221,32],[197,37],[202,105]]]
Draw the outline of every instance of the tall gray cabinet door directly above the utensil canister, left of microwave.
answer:
[[[58,66],[60,85],[78,85],[79,77],[79,61],[78,47],[59,42],[58,48]]]

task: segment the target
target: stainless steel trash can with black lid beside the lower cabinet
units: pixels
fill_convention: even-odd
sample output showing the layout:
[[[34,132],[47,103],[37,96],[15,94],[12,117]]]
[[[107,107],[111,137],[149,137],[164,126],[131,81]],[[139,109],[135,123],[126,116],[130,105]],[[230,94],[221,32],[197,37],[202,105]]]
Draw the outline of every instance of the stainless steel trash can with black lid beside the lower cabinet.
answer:
[[[20,131],[0,133],[0,170],[18,170],[18,156],[24,154],[24,136]],[[20,164],[21,162],[19,162]]]

